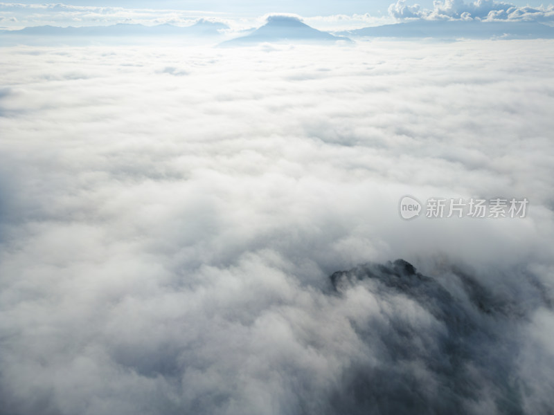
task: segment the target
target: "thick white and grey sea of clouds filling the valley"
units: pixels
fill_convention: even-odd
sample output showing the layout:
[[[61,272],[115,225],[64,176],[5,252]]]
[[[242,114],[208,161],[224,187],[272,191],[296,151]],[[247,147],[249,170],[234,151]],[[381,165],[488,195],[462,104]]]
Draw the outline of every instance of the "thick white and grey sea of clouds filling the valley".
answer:
[[[3,48],[0,414],[548,414],[553,46]]]

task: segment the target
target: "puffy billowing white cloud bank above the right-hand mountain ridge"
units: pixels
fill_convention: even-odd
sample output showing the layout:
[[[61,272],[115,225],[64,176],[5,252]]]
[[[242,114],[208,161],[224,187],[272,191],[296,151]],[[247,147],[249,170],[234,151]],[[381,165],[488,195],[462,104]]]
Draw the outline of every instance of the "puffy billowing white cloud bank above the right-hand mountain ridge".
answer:
[[[471,20],[483,21],[552,21],[554,6],[515,6],[494,0],[476,0],[466,3],[464,0],[436,0],[432,10],[422,9],[418,4],[409,6],[405,0],[398,0],[388,8],[388,14],[395,19],[429,20]]]

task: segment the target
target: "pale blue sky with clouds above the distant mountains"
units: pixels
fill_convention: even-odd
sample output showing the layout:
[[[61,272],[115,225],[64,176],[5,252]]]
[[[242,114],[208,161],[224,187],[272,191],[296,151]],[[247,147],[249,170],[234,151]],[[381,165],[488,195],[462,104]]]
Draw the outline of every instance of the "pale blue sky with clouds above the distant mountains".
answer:
[[[492,12],[492,14],[491,14]],[[554,25],[554,6],[537,1],[145,1],[71,3],[0,3],[0,28],[95,26],[117,23],[187,26],[197,19],[226,21],[233,30],[260,26],[271,13],[304,17],[316,28],[348,30],[410,19],[510,19]]]

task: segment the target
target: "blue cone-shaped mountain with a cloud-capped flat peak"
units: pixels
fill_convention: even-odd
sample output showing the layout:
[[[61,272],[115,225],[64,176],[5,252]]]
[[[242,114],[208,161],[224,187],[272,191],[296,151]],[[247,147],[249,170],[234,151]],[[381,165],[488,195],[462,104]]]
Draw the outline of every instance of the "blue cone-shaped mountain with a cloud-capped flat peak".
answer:
[[[222,46],[240,46],[261,42],[352,42],[348,37],[339,37],[314,29],[296,17],[270,16],[264,26],[247,36],[224,42]]]

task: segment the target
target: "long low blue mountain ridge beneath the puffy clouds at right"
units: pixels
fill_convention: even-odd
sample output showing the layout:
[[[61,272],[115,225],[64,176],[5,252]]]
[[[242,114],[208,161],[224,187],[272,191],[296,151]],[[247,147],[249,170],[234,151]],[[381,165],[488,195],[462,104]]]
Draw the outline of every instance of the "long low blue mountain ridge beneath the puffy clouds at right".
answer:
[[[466,39],[552,39],[554,28],[533,21],[430,21],[387,24],[338,33],[344,36]]]

